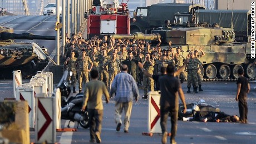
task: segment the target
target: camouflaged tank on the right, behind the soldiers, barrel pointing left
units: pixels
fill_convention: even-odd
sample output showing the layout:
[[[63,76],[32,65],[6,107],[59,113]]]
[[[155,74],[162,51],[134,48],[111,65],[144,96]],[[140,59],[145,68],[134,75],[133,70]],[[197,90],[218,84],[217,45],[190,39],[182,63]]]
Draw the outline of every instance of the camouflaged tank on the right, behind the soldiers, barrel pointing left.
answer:
[[[136,37],[140,35],[140,37]],[[162,44],[172,42],[174,53],[176,47],[181,47],[184,57],[188,56],[191,49],[201,48],[205,56],[200,58],[203,63],[201,75],[206,81],[229,81],[238,78],[238,69],[243,68],[249,80],[255,80],[256,67],[250,54],[249,42],[235,42],[235,32],[232,28],[219,27],[188,27],[188,28],[156,28],[151,36],[144,37],[142,33],[121,37],[112,34],[111,37],[127,39],[158,39]]]

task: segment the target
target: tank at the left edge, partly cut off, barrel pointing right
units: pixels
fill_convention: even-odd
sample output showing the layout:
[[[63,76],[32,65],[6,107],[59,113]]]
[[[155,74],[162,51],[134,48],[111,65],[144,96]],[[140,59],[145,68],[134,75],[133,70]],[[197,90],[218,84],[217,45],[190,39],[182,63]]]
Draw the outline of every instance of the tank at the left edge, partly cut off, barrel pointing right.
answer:
[[[42,71],[48,59],[40,59],[31,43],[14,42],[14,39],[55,40],[55,36],[38,36],[32,33],[13,33],[13,28],[0,27],[0,78],[11,78],[12,71],[21,70],[23,78]],[[47,54],[47,48],[42,48]]]

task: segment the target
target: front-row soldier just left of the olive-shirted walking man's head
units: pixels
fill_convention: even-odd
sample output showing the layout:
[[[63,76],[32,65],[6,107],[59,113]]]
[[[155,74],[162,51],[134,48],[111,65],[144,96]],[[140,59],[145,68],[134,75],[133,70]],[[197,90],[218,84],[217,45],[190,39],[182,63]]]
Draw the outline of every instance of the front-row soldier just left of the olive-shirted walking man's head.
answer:
[[[91,71],[93,66],[91,58],[86,55],[85,49],[82,49],[82,52],[83,52],[83,55],[76,59],[76,64],[78,66],[77,73],[78,73],[79,93],[82,92],[82,81],[84,81],[85,83],[88,82],[89,80],[88,72]],[[88,69],[89,63],[91,63],[90,69]]]

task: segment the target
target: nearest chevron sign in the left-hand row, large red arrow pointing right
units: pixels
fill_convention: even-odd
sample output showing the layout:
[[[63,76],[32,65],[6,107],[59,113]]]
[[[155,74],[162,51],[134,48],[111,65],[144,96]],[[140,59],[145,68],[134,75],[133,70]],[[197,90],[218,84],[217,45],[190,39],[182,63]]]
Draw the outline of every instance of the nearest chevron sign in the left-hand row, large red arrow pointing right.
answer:
[[[36,143],[56,142],[55,98],[36,98]]]

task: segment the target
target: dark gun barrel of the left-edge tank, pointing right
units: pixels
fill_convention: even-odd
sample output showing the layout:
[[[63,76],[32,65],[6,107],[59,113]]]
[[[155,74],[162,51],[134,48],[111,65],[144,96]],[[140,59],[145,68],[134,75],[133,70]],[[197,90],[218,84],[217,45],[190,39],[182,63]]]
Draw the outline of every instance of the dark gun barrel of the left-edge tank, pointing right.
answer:
[[[0,40],[7,40],[7,39],[45,39],[45,40],[55,40],[55,36],[41,36],[41,35],[34,35],[33,33],[9,33],[9,32],[1,32],[0,33]]]

